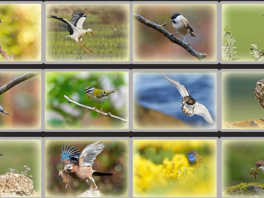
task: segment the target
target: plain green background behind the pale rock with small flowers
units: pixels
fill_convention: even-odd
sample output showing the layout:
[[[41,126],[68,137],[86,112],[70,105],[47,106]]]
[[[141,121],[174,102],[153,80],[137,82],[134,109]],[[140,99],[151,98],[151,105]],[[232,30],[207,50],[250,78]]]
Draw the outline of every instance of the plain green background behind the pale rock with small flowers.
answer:
[[[41,140],[0,140],[0,153],[0,174],[10,172],[9,168],[21,174],[27,165],[31,169],[27,177],[33,176],[34,190],[41,196]]]

